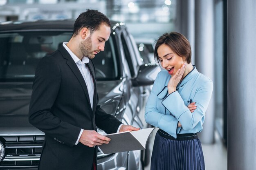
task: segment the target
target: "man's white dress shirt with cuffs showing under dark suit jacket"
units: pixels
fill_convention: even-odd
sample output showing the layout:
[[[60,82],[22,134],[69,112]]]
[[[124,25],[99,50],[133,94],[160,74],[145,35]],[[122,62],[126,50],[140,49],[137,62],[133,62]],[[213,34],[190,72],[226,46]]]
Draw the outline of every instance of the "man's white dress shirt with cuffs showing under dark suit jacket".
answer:
[[[64,48],[67,50],[67,52],[71,55],[72,59],[74,60],[74,62],[76,63],[76,66],[79,68],[79,71],[81,72],[83,79],[85,80],[87,89],[88,89],[88,93],[89,93],[89,97],[90,97],[90,104],[91,104],[91,108],[93,106],[93,96],[94,96],[94,84],[93,84],[93,78],[92,75],[90,73],[90,70],[88,68],[88,66],[86,66],[85,64],[87,64],[90,60],[88,57],[83,56],[82,60],[79,60],[78,57],[76,57],[76,55],[67,47],[67,42],[63,42],[63,46]],[[117,132],[119,132],[121,126],[123,124],[121,124],[119,126],[119,128],[117,129]],[[75,145],[77,145],[79,143],[79,139],[81,137],[83,133],[83,129],[80,130],[79,136],[76,140]]]

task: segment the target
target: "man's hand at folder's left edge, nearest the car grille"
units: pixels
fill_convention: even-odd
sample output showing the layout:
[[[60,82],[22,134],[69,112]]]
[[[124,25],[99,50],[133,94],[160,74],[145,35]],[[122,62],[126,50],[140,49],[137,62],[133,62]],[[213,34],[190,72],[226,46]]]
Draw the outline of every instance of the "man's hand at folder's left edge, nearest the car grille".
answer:
[[[96,145],[108,144],[110,138],[97,133],[95,130],[83,130],[79,142],[83,145],[94,147]]]

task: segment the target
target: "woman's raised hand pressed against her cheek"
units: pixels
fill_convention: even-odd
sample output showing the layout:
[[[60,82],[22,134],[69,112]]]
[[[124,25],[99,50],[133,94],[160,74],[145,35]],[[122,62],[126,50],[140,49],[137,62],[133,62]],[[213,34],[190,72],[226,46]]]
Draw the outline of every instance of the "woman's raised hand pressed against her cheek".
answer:
[[[186,63],[182,65],[182,67],[171,77],[171,79],[168,82],[168,93],[171,94],[174,91],[176,91],[176,87],[179,84],[182,75],[184,74],[186,68]]]

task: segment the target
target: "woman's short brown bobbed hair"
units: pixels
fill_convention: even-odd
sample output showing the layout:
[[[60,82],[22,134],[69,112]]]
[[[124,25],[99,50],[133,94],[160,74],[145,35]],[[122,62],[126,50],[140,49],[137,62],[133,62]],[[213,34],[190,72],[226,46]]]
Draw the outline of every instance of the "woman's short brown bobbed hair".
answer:
[[[191,63],[191,46],[189,40],[187,40],[186,37],[184,37],[184,35],[182,35],[181,33],[164,33],[158,38],[157,43],[155,44],[154,51],[155,61],[157,61],[158,63],[159,56],[157,54],[157,49],[162,44],[166,44],[167,46],[169,46],[172,51],[180,57],[185,57],[188,64]]]

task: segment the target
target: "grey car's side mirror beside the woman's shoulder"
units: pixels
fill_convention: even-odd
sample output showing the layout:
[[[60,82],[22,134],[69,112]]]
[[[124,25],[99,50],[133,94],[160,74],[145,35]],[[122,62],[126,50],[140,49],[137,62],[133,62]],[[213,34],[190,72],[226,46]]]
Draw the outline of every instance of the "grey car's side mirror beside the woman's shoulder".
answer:
[[[137,77],[132,79],[133,86],[148,86],[154,83],[161,68],[157,64],[144,64],[139,67]]]

